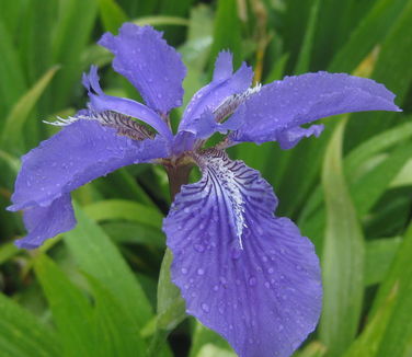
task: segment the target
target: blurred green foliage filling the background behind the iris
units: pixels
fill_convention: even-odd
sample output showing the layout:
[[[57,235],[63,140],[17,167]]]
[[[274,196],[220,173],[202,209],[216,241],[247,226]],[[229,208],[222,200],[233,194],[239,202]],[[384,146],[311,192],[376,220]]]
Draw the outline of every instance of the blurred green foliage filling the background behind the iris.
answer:
[[[84,106],[80,77],[91,64],[107,92],[136,97],[95,45],[124,21],[154,25],[178,47],[185,102],[222,48],[252,65],[256,82],[344,71],[397,94],[402,114],[327,118],[319,139],[293,150],[244,143],[230,156],[273,184],[277,214],[321,257],[323,315],[296,356],[412,356],[410,0],[0,0],[0,355],[234,356],[186,319],[168,254],[161,264],[170,198],[160,168],[125,168],[79,188],[75,230],[34,252],[12,243],[24,234],[4,210],[20,157],[56,131],[42,119]]]

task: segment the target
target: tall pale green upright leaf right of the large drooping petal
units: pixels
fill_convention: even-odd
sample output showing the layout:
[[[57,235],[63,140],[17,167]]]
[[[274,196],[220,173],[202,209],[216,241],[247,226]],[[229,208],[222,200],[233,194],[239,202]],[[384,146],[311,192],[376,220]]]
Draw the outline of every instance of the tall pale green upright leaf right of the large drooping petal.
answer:
[[[343,174],[342,141],[346,120],[339,123],[324,157],[322,184],[327,231],[322,255],[323,312],[320,339],[339,356],[354,339],[364,287],[364,241]]]

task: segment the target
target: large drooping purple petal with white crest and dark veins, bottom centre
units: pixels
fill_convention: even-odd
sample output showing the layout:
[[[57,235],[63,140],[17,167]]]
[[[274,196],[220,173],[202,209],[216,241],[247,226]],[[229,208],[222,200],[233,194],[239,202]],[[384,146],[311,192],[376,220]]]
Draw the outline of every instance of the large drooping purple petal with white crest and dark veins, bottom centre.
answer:
[[[225,153],[198,158],[203,178],[185,185],[164,220],[172,280],[187,312],[240,357],[289,356],[321,310],[319,261],[259,172]]]

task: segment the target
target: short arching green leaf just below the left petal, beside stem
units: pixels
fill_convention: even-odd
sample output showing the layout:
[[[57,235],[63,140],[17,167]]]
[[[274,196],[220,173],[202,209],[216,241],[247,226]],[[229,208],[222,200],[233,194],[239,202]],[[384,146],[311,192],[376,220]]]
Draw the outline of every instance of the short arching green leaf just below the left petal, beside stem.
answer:
[[[125,199],[96,201],[88,205],[84,211],[96,221],[124,219],[154,228],[161,227],[163,220],[157,209]]]

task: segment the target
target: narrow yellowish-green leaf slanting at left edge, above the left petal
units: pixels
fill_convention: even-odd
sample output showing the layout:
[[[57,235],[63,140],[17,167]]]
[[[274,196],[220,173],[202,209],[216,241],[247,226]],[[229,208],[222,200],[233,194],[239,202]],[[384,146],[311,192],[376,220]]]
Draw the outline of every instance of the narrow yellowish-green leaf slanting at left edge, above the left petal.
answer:
[[[58,67],[49,69],[36,84],[16,102],[5,118],[1,135],[0,146],[3,148],[15,148],[22,138],[24,123],[28,119],[28,114],[37,103],[44,90],[55,76]]]

